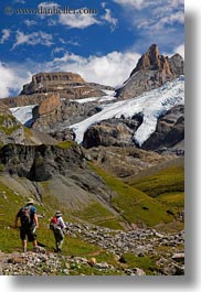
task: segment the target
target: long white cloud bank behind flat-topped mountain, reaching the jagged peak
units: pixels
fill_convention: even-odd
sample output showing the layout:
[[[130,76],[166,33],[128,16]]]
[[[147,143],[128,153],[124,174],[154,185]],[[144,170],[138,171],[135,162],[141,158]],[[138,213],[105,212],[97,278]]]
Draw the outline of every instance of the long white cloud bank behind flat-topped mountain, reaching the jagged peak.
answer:
[[[44,64],[0,62],[0,98],[18,95],[22,86],[31,80],[31,76],[39,72],[73,72],[78,73],[86,82],[118,86],[128,78],[139,57],[139,54],[130,52],[112,52],[105,56],[89,57],[66,53],[63,57]]]

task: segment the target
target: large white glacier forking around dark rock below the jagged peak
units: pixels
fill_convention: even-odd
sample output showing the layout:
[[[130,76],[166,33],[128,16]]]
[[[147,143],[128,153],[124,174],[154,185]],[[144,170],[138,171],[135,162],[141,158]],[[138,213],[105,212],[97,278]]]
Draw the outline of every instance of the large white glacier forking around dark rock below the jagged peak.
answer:
[[[158,118],[170,108],[182,104],[184,104],[184,76],[138,97],[102,106],[102,111],[70,128],[74,130],[76,141],[82,143],[85,131],[92,125],[121,116],[131,118],[140,112],[144,121],[135,132],[134,139],[141,145],[156,130]]]

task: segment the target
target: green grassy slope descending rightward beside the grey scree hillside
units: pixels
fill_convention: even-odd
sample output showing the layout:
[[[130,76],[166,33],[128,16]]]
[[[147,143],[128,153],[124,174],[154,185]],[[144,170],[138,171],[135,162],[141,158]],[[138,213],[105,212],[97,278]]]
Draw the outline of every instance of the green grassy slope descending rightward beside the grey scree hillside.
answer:
[[[145,192],[127,185],[92,163],[91,166],[113,191],[110,206],[114,207],[127,223],[155,226],[172,220],[167,214],[166,206],[160,202],[150,197]]]

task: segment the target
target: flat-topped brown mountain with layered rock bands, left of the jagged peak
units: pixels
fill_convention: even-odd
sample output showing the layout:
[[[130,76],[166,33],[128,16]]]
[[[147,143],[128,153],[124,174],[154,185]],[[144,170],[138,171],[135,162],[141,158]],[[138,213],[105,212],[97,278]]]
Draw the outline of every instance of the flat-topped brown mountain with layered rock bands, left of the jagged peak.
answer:
[[[0,101],[11,108],[40,104],[50,95],[60,95],[61,99],[70,100],[104,96],[103,90],[113,89],[110,86],[87,83],[76,73],[38,73],[23,86],[19,96],[2,98]]]

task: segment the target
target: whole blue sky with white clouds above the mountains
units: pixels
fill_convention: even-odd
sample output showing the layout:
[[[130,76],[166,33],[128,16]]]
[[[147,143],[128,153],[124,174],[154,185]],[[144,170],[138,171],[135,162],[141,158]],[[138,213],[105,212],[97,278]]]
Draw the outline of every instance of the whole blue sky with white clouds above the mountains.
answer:
[[[96,13],[70,14],[73,9]],[[71,71],[117,86],[152,43],[161,54],[184,53],[183,0],[12,0],[0,3],[0,13],[1,98],[18,94],[38,72]]]

